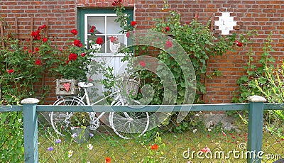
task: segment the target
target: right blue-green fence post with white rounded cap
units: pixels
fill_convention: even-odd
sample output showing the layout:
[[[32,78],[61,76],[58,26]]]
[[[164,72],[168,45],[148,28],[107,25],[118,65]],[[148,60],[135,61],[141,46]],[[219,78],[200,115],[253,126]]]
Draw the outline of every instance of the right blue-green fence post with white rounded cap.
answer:
[[[249,130],[246,157],[247,162],[260,163],[263,152],[261,151],[263,138],[263,103],[261,96],[249,96]]]

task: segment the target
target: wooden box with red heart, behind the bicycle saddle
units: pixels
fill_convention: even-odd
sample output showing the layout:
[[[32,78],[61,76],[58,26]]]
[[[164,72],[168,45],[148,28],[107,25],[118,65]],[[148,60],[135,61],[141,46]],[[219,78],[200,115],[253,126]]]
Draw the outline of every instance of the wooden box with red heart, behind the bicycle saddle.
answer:
[[[70,84],[69,90],[65,89],[65,84]],[[78,81],[75,79],[56,79],[56,90],[57,95],[74,95],[79,94]]]

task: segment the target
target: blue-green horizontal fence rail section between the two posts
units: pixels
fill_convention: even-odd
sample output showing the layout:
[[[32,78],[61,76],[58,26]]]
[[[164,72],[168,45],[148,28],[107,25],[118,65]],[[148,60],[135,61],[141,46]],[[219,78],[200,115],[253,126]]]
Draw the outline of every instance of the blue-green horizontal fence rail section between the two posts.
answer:
[[[72,111],[72,112],[171,112],[171,111],[245,111],[249,103],[193,104],[176,106],[43,106],[37,111]]]

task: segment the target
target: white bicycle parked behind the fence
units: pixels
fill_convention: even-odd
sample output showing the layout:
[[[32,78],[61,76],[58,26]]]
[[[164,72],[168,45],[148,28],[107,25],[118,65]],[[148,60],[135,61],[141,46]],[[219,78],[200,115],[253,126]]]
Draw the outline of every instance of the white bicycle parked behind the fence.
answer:
[[[95,103],[90,103],[87,88],[93,86],[92,83],[78,83],[81,89],[84,90],[84,95],[77,96],[60,96],[53,105],[56,106],[94,106],[97,103],[104,101],[110,97],[113,98],[111,106],[128,106],[129,101],[121,95],[120,91],[115,91],[113,94],[106,96]],[[133,100],[132,100],[133,101]],[[133,101],[134,104],[140,104],[139,101]],[[133,105],[131,103],[131,105]],[[105,112],[102,112],[97,116],[95,112],[88,112],[90,117],[90,130],[96,130],[100,125],[100,118],[104,116]],[[70,118],[73,116],[73,112],[51,112],[50,122],[53,129],[59,135],[64,136],[64,131],[70,128]],[[143,135],[148,129],[149,114],[148,112],[110,112],[109,113],[109,125],[114,130],[116,135],[124,139],[129,139],[135,136]],[[63,132],[62,132],[63,131]]]

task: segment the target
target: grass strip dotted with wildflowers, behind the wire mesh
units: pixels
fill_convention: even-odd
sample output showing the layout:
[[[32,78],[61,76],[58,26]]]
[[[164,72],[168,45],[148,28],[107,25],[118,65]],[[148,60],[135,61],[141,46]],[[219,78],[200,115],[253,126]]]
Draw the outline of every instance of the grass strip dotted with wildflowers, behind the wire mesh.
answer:
[[[147,157],[153,157],[157,162],[188,162],[189,160],[191,162],[246,162],[244,153],[247,133],[246,127],[243,127],[245,130],[241,130],[240,133],[235,130],[223,133],[219,127],[211,130],[197,128],[197,130],[183,133],[160,132],[158,136],[155,136],[155,131],[148,131],[145,136],[133,140],[124,140],[114,133],[103,130],[94,133],[94,136],[83,144],[72,141],[70,136],[60,137],[53,132],[52,128],[49,128],[39,131],[41,133],[38,140],[39,158],[40,162],[105,162],[106,157],[111,157],[112,162],[143,162],[143,159]],[[161,142],[155,141],[155,139],[159,140],[159,137]],[[62,142],[55,143],[57,139]],[[87,148],[89,144],[93,145],[92,150]],[[154,144],[159,145],[158,150],[149,150],[149,147]],[[54,150],[48,151],[50,146]],[[213,158],[197,158],[197,152],[204,147],[209,147]],[[67,154],[70,150],[73,153],[69,158]],[[220,153],[222,156],[222,151],[224,157],[228,157],[230,151],[239,151],[239,158],[234,158],[233,153],[228,158],[214,158],[214,153]],[[195,153],[192,154],[192,152]],[[284,158],[284,140],[264,132],[263,152],[263,162],[273,162],[277,158],[280,159],[280,156]],[[277,158],[266,159],[264,158],[266,154]],[[205,156],[205,153],[200,154],[200,157]]]

